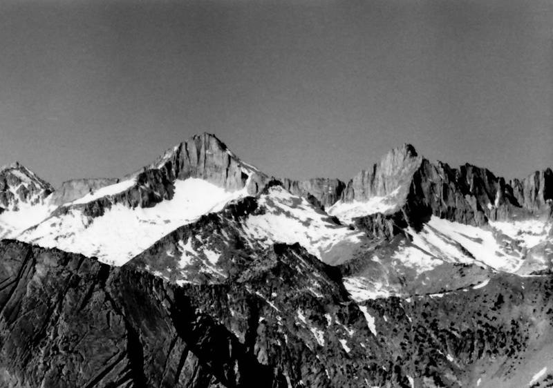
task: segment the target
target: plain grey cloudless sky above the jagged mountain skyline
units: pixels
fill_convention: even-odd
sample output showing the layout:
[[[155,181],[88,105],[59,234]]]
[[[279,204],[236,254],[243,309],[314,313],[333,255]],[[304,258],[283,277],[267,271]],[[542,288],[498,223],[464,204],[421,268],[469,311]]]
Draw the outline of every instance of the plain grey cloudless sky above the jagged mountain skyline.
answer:
[[[4,0],[0,48],[0,165],[55,186],[203,132],[296,179],[553,166],[549,0]]]

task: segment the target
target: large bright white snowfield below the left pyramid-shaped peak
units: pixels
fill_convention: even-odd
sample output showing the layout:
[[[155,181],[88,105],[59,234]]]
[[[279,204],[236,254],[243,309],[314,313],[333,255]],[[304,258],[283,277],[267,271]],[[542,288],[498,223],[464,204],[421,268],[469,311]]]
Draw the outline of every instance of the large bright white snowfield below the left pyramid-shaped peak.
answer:
[[[73,204],[89,202],[99,193],[112,195],[131,185],[132,181],[126,181],[107,186]],[[178,226],[193,222],[205,213],[220,211],[227,202],[247,195],[244,190],[228,192],[196,178],[177,180],[174,186],[171,200],[151,208],[114,204],[100,217],[90,217],[82,208],[69,208],[17,238],[122,265]]]

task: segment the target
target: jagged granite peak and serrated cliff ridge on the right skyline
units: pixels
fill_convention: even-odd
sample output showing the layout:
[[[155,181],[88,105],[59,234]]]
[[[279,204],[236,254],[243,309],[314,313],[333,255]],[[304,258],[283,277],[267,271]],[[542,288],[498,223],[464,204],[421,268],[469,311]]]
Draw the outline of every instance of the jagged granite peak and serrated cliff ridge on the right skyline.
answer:
[[[488,220],[551,213],[552,182],[550,168],[507,183],[487,168],[471,164],[451,168],[442,162],[430,162],[413,146],[404,144],[386,154],[371,170],[350,180],[340,199],[366,202],[391,196],[397,208],[415,223],[420,217],[436,215],[481,226]]]

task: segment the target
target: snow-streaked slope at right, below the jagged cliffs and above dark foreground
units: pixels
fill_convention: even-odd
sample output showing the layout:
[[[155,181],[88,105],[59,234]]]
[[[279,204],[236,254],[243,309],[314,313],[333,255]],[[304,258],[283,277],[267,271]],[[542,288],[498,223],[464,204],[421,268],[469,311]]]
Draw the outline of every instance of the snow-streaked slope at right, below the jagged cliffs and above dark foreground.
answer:
[[[344,285],[361,301],[470,288],[496,272],[550,271],[551,228],[538,219],[477,227],[432,216],[422,230],[408,228],[371,251],[361,270],[346,275]]]

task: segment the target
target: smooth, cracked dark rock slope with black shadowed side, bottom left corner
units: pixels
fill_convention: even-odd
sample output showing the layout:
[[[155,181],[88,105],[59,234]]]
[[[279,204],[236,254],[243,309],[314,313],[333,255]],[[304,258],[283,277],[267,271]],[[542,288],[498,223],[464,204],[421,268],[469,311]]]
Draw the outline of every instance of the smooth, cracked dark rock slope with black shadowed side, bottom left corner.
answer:
[[[286,387],[183,289],[79,255],[0,245],[3,387]]]

